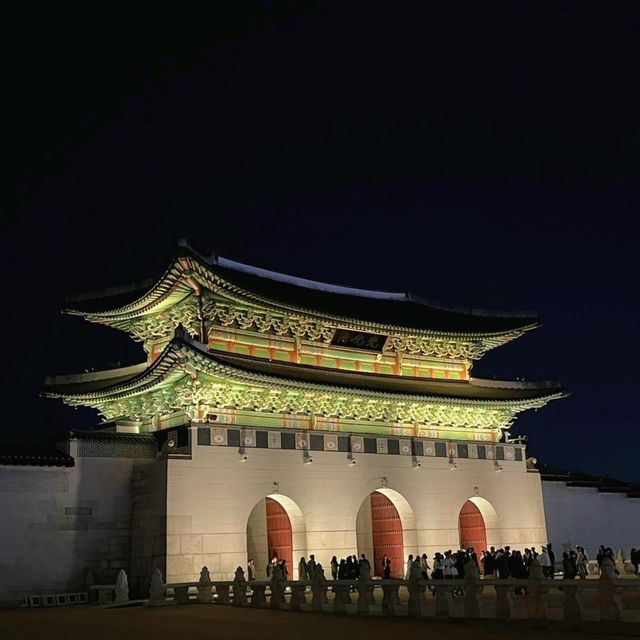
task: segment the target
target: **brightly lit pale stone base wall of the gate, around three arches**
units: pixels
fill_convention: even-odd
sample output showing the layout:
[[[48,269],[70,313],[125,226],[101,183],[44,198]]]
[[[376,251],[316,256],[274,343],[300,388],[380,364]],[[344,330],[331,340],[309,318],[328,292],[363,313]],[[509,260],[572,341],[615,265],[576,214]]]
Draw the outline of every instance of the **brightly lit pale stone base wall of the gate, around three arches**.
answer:
[[[435,457],[421,458],[422,467],[414,469],[410,456],[399,455],[359,454],[348,465],[346,454],[337,452],[314,451],[313,464],[304,464],[296,450],[247,448],[246,454],[241,463],[233,447],[194,444],[191,460],[168,461],[170,582],[197,579],[203,565],[214,579],[231,579],[237,566],[246,566],[247,522],[255,505],[273,493],[274,482],[278,495],[300,512],[301,525],[293,527],[294,564],[314,553],[327,575],[332,555],[358,552],[357,514],[381,488],[382,477],[383,492],[403,520],[405,556],[456,548],[460,509],[476,496],[488,501],[480,506],[483,511],[489,505],[489,545],[547,542],[540,477],[527,472],[524,462],[500,461],[503,471],[496,473],[491,460],[457,459],[457,469],[450,470],[447,458]]]

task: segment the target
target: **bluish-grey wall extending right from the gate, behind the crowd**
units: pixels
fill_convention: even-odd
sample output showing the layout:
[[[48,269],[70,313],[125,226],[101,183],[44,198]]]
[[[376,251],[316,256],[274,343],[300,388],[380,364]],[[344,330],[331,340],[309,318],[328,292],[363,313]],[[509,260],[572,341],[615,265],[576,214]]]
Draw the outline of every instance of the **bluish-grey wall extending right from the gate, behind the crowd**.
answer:
[[[601,544],[616,552],[622,549],[625,558],[632,548],[640,548],[640,498],[548,480],[542,482],[542,492],[556,556],[576,545],[591,559]]]

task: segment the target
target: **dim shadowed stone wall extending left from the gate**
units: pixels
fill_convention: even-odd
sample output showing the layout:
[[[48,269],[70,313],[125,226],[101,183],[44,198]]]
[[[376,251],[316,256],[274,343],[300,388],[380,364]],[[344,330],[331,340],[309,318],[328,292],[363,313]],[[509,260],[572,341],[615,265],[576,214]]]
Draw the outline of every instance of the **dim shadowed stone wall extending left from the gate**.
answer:
[[[0,466],[0,601],[84,590],[131,557],[133,460],[75,467]]]

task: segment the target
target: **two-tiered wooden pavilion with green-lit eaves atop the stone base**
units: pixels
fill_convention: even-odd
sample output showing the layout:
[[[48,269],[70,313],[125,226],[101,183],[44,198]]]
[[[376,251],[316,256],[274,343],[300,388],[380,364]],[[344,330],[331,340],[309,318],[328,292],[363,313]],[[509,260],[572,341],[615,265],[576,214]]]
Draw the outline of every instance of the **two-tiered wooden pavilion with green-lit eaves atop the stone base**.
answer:
[[[182,244],[162,277],[76,297],[67,313],[142,341],[146,362],[56,376],[45,393],[141,430],[184,422],[498,440],[556,383],[482,380],[474,360],[535,315],[444,308],[326,284]]]

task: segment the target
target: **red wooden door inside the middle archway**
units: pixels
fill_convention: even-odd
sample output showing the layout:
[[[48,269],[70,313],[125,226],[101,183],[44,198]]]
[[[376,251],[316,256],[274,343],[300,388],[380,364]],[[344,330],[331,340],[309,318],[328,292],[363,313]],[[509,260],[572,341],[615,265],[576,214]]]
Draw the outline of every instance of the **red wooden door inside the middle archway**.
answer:
[[[391,558],[391,577],[404,577],[402,522],[393,502],[375,491],[371,500],[374,575],[382,575],[382,558]]]

